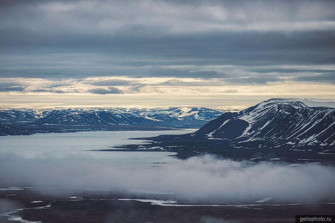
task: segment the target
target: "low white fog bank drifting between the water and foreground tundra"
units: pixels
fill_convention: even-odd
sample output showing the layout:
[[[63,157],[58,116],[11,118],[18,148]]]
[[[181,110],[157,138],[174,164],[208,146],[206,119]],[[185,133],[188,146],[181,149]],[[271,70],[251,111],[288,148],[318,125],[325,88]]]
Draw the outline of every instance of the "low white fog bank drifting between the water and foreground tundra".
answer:
[[[150,168],[118,168],[89,158],[31,158],[0,154],[0,187],[167,190],[180,199],[250,202],[330,202],[335,168],[320,164],[235,162],[192,157]]]

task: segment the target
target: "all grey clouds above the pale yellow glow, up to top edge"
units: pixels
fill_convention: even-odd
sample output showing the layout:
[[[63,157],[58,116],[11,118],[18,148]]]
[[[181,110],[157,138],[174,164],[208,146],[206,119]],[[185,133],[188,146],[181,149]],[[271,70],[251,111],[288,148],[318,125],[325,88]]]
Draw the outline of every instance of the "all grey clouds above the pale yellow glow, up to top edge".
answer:
[[[334,7],[334,1],[5,0],[0,77],[190,77],[266,84],[281,80],[268,72],[293,72],[294,81],[325,81],[294,72],[319,72],[325,69],[308,66],[335,63]],[[242,78],[232,69],[184,65],[231,65],[260,75]]]

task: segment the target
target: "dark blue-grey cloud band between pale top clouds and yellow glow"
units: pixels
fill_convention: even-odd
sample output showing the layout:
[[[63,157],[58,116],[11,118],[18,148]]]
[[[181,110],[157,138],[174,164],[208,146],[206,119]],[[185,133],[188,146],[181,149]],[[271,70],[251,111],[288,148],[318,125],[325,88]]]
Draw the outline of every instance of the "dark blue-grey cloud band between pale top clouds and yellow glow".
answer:
[[[35,51],[40,51],[44,57],[42,60],[38,53],[29,55],[26,50],[20,52],[22,55],[14,55],[11,60],[6,59],[8,52],[12,51],[3,46],[1,47],[3,50],[0,48],[2,65],[0,76],[222,78],[228,72],[166,68],[181,65],[234,65],[248,67],[247,69],[254,72],[290,72],[292,69],[280,68],[280,66],[334,64],[335,46],[324,42],[334,39],[335,33],[305,32],[294,36],[291,34],[285,36],[282,33],[208,34],[200,37],[189,36],[189,38],[172,36],[160,41],[148,39],[144,44],[141,41],[136,43],[135,40],[130,44],[127,39],[124,39],[124,43],[116,40],[114,44],[106,43],[105,47],[98,46],[101,43],[91,41],[86,43],[86,47],[36,46]],[[249,43],[249,46],[245,43]],[[272,46],[271,43],[273,43]],[[116,47],[113,47],[114,45]],[[73,52],[79,56],[73,56]],[[269,65],[277,68],[262,68]]]

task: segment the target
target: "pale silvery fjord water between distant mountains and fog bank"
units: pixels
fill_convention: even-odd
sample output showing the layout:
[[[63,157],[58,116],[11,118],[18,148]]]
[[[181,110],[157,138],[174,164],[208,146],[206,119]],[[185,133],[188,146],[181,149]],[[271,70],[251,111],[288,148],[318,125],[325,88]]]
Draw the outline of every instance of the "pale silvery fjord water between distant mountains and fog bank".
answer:
[[[187,134],[197,129],[167,131],[92,131],[76,133],[40,133],[28,136],[0,137],[0,151],[31,158],[88,158],[118,166],[147,166],[154,162],[169,162],[176,159],[173,152],[154,151],[94,151],[113,149],[113,146],[141,144],[143,140],[129,139],[158,135]],[[10,157],[10,156],[9,156]]]

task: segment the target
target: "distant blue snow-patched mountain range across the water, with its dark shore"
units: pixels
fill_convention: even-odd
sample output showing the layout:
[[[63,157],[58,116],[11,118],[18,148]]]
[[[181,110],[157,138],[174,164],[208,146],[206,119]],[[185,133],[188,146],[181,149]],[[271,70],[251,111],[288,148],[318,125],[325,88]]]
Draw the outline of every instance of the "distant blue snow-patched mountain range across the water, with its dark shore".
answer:
[[[223,107],[3,108],[0,109],[2,125],[0,134],[26,135],[36,132],[118,130],[120,128],[135,130],[150,126],[200,128],[227,111],[238,110]]]

